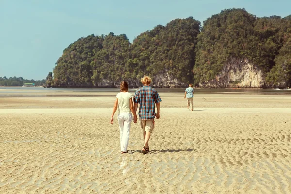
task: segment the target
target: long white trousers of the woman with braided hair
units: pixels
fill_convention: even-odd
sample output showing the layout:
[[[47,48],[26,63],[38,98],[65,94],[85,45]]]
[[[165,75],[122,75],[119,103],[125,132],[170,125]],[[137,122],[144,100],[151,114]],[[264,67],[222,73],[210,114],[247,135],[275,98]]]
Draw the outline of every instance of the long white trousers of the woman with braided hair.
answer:
[[[133,118],[131,113],[120,113],[117,118],[120,129],[120,150],[126,152],[129,145],[130,126]]]

